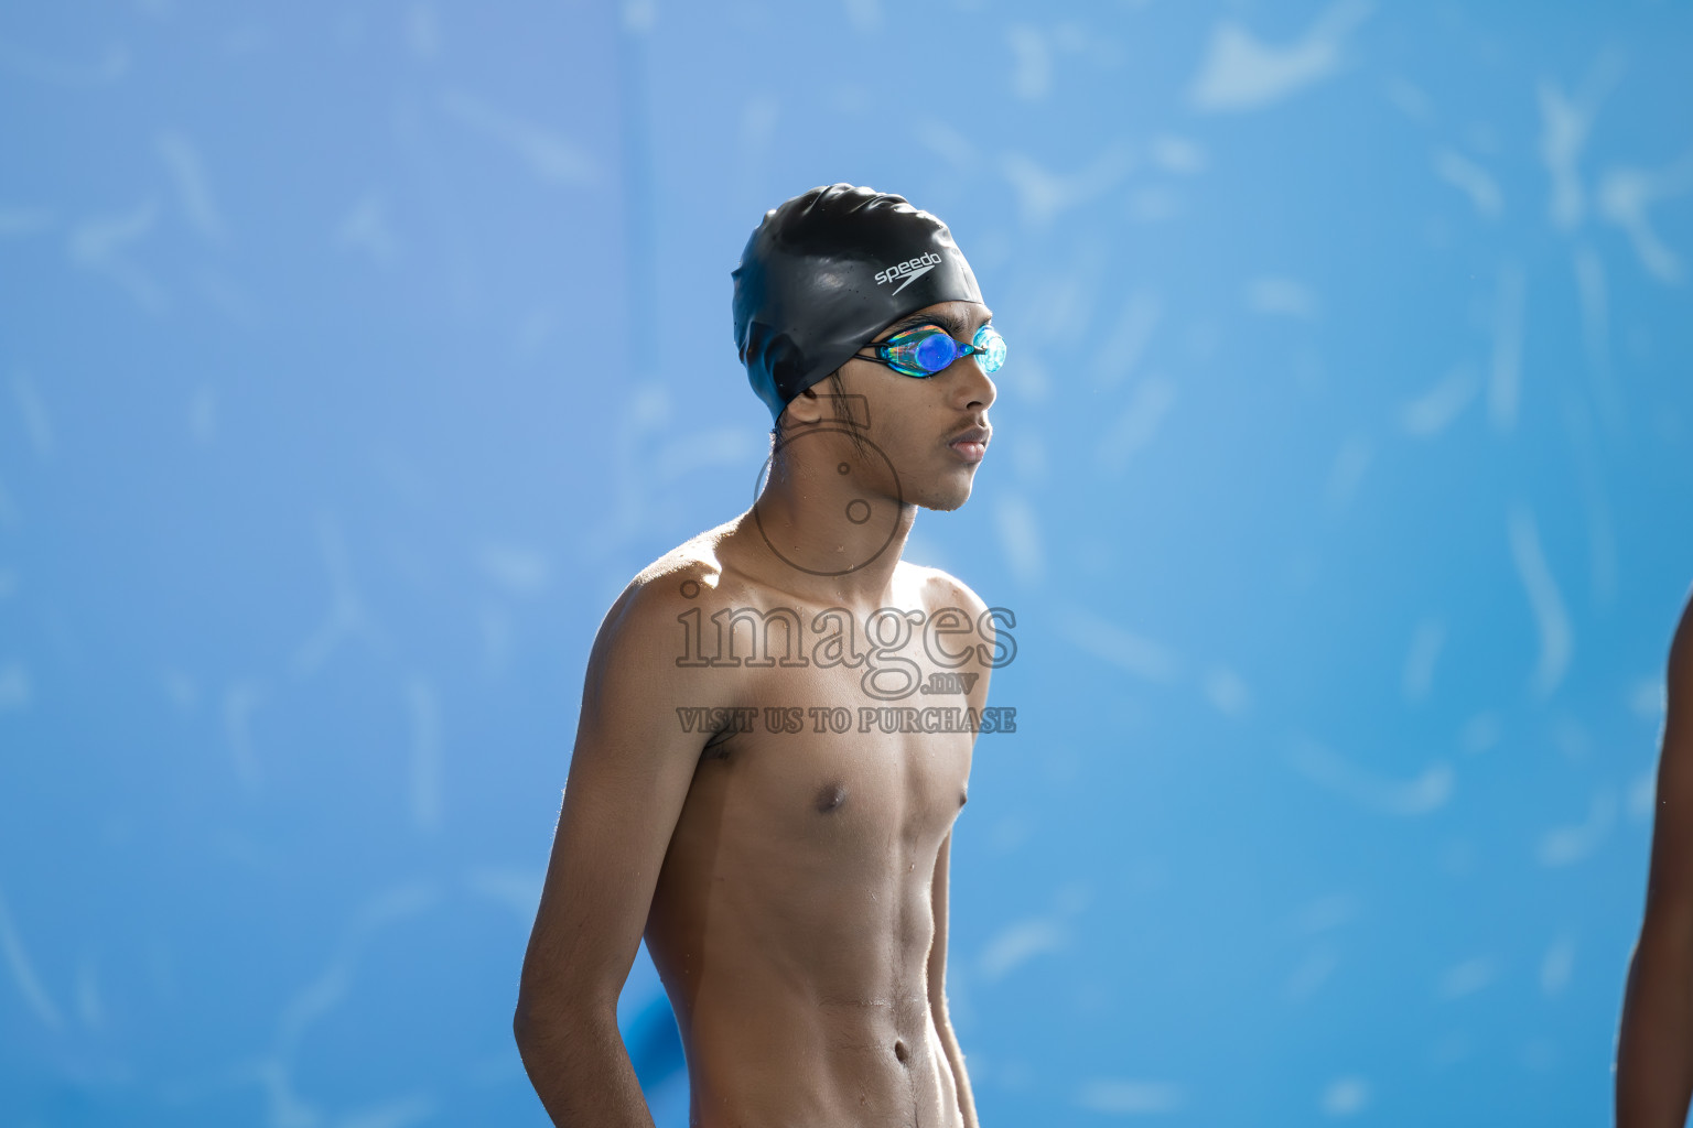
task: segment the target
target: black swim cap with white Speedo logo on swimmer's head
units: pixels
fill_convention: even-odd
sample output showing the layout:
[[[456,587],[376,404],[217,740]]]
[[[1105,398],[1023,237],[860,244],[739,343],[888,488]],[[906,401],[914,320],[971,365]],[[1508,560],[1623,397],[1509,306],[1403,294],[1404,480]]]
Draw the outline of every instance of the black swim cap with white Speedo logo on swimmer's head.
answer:
[[[735,347],[779,418],[899,318],[982,301],[951,232],[904,196],[828,184],[764,213],[735,267]]]

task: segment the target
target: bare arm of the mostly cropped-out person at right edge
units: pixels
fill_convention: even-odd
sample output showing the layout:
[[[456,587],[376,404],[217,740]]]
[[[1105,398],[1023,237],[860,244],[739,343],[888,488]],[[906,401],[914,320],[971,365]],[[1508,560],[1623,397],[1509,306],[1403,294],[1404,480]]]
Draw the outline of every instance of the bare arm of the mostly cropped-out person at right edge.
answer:
[[[1681,1128],[1693,1094],[1693,604],[1666,688],[1646,920],[1617,1040],[1617,1128]]]

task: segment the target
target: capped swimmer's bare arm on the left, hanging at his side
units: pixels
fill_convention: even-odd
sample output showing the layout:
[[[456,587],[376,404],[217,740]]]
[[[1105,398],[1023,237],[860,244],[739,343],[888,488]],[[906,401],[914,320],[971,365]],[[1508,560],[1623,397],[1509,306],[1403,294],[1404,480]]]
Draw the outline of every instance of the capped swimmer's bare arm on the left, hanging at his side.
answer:
[[[554,1125],[652,1128],[616,1003],[699,756],[672,609],[631,585],[594,639],[513,1033]]]

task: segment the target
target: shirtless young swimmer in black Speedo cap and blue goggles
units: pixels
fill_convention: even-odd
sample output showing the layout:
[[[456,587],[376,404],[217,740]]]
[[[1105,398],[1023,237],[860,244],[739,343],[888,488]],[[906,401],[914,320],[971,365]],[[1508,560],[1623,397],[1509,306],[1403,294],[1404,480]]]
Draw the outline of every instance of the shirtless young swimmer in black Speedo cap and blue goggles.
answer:
[[[748,240],[735,337],[775,416],[770,474],[594,639],[515,1020],[554,1123],[652,1125],[616,1027],[645,932],[692,1125],[977,1128],[948,847],[970,729],[1011,727],[984,707],[995,617],[1014,622],[899,556],[918,507],[970,497],[990,316],[946,227],[899,196],[816,188]]]

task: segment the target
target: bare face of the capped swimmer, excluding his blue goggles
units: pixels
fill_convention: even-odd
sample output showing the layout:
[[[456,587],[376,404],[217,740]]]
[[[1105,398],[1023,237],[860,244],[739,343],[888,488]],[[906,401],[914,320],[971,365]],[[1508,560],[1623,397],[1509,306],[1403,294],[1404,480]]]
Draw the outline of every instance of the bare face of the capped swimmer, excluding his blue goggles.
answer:
[[[968,342],[992,320],[994,313],[979,301],[943,301],[901,318],[875,340],[887,340],[918,325],[938,325],[955,340]],[[970,499],[975,470],[987,455],[987,409],[994,404],[994,381],[982,372],[975,357],[960,357],[929,377],[901,375],[875,360],[853,359],[840,370],[843,391],[862,396],[869,409],[869,426],[860,433],[899,474],[889,494],[924,509],[957,509]],[[830,394],[830,384],[816,384],[801,396]],[[848,401],[852,402],[852,401]],[[806,404],[811,408],[811,404]],[[808,411],[809,414],[809,411]],[[833,414],[828,402],[819,414]]]

